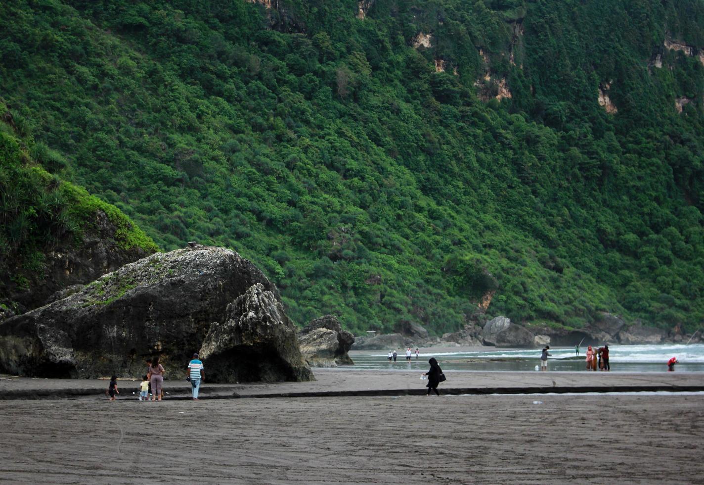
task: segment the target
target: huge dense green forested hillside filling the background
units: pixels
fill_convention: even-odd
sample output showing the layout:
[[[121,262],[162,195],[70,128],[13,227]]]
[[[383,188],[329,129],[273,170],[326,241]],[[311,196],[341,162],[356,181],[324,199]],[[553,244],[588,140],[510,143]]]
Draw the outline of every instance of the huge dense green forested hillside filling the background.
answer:
[[[46,170],[165,250],[233,247],[299,324],[451,331],[495,291],[700,326],[702,1],[271,3],[5,4],[0,97]]]

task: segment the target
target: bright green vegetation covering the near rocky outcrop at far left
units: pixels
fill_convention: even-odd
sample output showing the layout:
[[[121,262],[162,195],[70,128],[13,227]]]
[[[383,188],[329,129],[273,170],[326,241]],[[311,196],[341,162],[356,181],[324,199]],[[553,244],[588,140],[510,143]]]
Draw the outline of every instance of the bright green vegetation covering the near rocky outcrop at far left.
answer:
[[[118,247],[158,247],[116,207],[83,188],[48,173],[42,165],[63,163],[63,156],[34,142],[23,118],[15,119],[0,103],[0,304],[12,305],[11,290],[31,290],[41,282],[46,253],[80,245],[85,231],[103,211]]]

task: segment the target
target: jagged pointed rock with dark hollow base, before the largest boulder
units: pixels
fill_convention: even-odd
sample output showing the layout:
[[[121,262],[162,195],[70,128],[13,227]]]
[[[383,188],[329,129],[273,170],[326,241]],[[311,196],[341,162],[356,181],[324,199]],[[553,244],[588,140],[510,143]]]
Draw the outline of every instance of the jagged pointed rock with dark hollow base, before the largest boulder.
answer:
[[[227,305],[222,323],[210,326],[199,355],[208,379],[218,382],[310,381],[296,329],[275,293],[262,283]],[[213,376],[212,378],[210,376]]]

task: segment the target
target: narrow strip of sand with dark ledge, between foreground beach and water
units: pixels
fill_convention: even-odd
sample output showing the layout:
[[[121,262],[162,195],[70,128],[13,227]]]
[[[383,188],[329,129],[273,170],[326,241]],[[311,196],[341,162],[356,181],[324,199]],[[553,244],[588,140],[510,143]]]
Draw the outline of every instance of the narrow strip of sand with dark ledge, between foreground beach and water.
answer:
[[[203,400],[243,398],[338,398],[423,395],[425,381],[408,370],[369,371],[313,369],[315,381],[275,383],[208,383]],[[704,391],[700,372],[463,372],[447,371],[439,390],[447,395],[614,393]],[[137,401],[139,381],[118,381],[118,400]],[[101,379],[44,379],[0,376],[0,400],[105,399],[107,381]],[[183,380],[165,381],[165,400],[188,399]],[[132,394],[132,393],[135,394]],[[138,402],[138,401],[137,401]]]

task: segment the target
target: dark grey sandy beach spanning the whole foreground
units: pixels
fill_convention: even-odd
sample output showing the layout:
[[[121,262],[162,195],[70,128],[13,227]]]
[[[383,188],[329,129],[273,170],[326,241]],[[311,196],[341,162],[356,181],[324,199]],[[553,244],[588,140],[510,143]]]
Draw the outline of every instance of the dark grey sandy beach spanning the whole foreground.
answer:
[[[389,375],[391,374],[391,375]],[[453,373],[482,386],[696,382],[701,374]],[[422,389],[417,373],[316,371],[315,383]],[[72,388],[106,381],[0,381]],[[179,383],[179,386],[181,383]],[[31,387],[31,386],[30,386]],[[206,388],[208,384],[206,384]],[[232,387],[232,386],[230,386]],[[173,383],[172,390],[177,388]],[[215,391],[218,386],[210,386]],[[222,395],[231,394],[225,391]],[[0,482],[31,484],[703,483],[704,395],[0,400]],[[167,386],[168,390],[168,386]],[[128,392],[129,398],[127,398]],[[207,396],[207,395],[206,395]],[[534,404],[541,401],[541,404]]]

